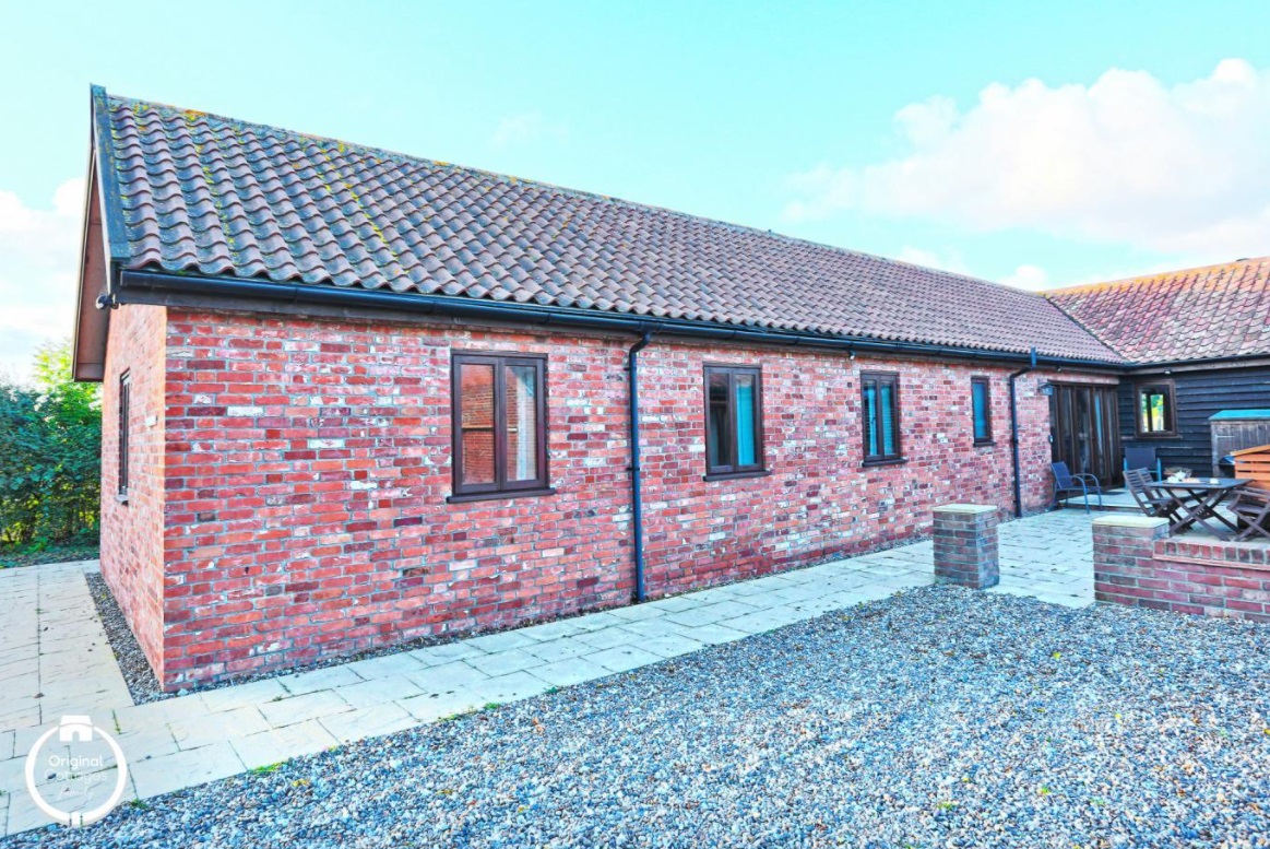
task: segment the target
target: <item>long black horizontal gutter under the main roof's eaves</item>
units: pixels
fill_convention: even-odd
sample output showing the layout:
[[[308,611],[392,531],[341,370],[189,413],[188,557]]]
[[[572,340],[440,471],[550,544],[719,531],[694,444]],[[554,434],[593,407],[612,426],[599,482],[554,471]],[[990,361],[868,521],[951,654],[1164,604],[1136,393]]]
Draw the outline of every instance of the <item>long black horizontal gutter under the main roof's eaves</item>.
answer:
[[[456,295],[425,295],[420,292],[395,292],[380,289],[338,287],[326,283],[274,283],[260,280],[237,277],[203,277],[197,275],[173,275],[168,272],[128,271],[119,275],[119,291],[113,292],[102,306],[117,306],[132,302],[163,302],[155,300],[130,299],[133,292],[156,295],[212,295],[222,299],[243,299],[246,301],[273,301],[288,305],[315,304],[337,308],[387,309],[396,313],[423,315],[443,315],[452,318],[513,322],[518,324],[552,324],[561,327],[585,328],[591,330],[610,330],[616,333],[645,333],[716,339],[723,342],[754,342],[762,344],[790,344],[827,348],[837,351],[856,350],[860,352],[906,353],[937,357],[963,357],[969,360],[992,361],[1040,361],[1053,366],[1076,366],[1085,369],[1124,367],[1121,362],[1102,360],[1082,360],[1077,357],[1038,357],[1017,351],[989,351],[925,342],[885,342],[870,337],[815,336],[789,330],[765,330],[758,328],[739,328],[711,322],[690,319],[669,319],[650,315],[625,313],[603,313],[599,310],[563,306],[542,306],[540,304],[521,304],[517,301],[489,301]]]

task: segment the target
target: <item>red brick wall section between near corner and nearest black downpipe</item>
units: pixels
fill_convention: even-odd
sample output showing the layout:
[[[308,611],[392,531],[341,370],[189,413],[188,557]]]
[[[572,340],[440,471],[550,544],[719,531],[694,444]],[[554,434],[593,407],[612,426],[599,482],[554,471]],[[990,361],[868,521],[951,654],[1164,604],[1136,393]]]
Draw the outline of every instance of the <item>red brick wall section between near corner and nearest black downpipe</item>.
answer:
[[[447,503],[452,350],[550,353],[555,496]],[[624,347],[178,314],[169,684],[631,595]]]

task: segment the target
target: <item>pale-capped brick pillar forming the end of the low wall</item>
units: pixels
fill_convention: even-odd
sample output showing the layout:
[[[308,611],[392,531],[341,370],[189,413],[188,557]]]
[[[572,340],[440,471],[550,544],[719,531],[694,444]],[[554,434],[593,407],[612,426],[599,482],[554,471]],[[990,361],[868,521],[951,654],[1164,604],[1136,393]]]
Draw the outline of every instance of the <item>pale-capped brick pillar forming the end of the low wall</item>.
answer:
[[[1130,606],[1167,608],[1154,590],[1156,540],[1168,536],[1168,521],[1133,513],[1093,520],[1093,597]]]

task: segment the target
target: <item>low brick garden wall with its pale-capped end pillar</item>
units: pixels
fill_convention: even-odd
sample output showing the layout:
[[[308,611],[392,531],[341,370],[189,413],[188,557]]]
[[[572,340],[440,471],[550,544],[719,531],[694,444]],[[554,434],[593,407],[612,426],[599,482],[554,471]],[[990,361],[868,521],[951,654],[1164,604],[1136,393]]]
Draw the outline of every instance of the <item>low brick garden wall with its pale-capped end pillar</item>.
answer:
[[[1270,547],[1168,536],[1146,516],[1093,520],[1099,601],[1270,621]]]

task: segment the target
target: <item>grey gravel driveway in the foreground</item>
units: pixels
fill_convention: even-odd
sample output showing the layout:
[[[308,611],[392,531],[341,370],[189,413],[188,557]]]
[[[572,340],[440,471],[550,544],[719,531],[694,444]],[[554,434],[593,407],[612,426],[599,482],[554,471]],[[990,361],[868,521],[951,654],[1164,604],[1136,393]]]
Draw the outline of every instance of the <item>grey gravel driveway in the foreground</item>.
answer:
[[[56,846],[1265,846],[1270,627],[930,587]]]

